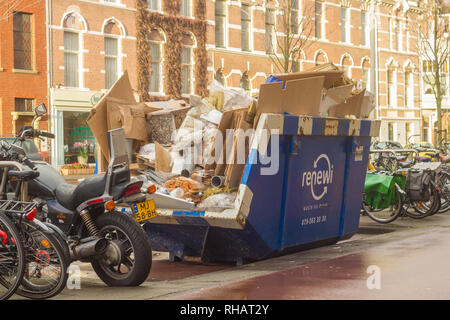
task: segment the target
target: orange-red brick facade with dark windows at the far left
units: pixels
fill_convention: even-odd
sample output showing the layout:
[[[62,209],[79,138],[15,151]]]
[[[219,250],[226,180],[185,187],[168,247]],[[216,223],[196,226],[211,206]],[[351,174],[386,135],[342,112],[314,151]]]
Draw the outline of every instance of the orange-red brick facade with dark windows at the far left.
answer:
[[[45,1],[0,5],[0,134],[31,123],[33,107],[48,105]],[[40,124],[46,128],[46,122]]]

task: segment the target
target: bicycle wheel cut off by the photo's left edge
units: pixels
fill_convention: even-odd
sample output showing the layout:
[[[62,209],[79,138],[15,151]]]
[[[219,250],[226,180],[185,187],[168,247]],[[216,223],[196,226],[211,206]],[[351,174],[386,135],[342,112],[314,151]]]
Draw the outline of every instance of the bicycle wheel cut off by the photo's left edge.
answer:
[[[0,299],[11,297],[25,270],[25,251],[14,223],[0,214]]]

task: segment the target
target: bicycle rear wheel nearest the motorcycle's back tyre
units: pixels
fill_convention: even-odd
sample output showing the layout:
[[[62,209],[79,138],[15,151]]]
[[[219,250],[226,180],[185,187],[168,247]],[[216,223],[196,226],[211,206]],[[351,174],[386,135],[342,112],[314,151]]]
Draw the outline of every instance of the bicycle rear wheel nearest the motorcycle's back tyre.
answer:
[[[21,224],[26,247],[25,274],[16,293],[30,299],[47,299],[60,293],[67,282],[69,259],[57,236],[33,222]]]

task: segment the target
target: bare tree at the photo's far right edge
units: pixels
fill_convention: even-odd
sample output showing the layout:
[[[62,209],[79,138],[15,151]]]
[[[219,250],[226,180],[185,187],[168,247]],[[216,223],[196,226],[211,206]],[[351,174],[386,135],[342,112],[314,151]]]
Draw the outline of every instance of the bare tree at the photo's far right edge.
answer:
[[[425,22],[418,27],[418,50],[426,67],[423,81],[428,85],[436,100],[437,142],[442,140],[442,100],[448,91],[446,73],[449,60],[449,30],[447,18],[442,16],[444,3],[432,0],[423,16]]]

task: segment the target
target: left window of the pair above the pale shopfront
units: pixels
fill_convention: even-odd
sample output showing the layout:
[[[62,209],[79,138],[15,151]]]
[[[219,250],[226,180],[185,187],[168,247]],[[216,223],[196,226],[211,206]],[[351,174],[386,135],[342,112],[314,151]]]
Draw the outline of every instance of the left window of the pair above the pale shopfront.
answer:
[[[64,31],[64,85],[78,87],[78,33]]]

